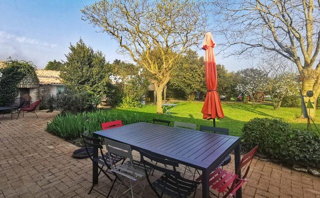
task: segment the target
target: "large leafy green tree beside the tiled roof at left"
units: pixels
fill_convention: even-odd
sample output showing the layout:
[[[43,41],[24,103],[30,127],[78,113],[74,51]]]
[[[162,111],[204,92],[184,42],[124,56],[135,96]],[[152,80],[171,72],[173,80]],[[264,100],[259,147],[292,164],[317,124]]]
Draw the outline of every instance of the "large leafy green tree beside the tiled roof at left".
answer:
[[[60,74],[64,83],[78,91],[87,91],[96,98],[105,96],[109,87],[110,66],[100,51],[93,51],[82,39],[70,43],[70,52]]]

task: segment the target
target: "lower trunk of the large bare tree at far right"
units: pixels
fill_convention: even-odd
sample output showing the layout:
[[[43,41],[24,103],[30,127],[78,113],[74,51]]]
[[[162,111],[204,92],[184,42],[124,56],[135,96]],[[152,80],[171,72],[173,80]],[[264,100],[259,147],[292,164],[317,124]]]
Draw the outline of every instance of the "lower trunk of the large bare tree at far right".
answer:
[[[308,112],[308,115],[311,116],[312,118],[315,117],[315,109],[316,109],[316,99],[318,98],[319,92],[318,90],[314,90],[313,89],[314,86],[314,79],[303,79],[302,80],[302,95],[304,96],[304,102],[308,102],[308,100],[310,99],[310,101],[312,102],[313,105],[313,109],[306,109]],[[312,90],[313,91],[313,96],[312,97],[307,97],[306,92]]]

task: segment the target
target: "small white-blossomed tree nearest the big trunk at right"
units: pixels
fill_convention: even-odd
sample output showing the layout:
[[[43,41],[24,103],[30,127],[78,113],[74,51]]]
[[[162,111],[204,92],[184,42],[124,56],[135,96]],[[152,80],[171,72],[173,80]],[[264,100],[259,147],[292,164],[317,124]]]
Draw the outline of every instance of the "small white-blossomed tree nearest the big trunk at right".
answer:
[[[278,109],[286,96],[298,96],[298,83],[294,81],[296,74],[285,72],[270,78],[267,83],[273,108]]]

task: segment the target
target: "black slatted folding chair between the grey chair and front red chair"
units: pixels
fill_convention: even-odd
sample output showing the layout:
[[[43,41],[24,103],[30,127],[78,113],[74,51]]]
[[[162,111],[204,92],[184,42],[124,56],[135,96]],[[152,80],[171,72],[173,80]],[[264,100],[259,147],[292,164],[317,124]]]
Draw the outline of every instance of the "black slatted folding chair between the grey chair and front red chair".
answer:
[[[176,168],[178,167],[177,162],[163,159],[154,153],[142,150],[140,150],[140,157],[141,163],[144,166],[147,182],[158,198],[161,198],[163,194],[173,198],[185,198],[190,196],[192,192],[194,192],[194,198],[196,188],[200,183],[182,178],[180,173],[176,171]],[[162,164],[164,168],[154,165],[145,159],[149,159],[157,164]],[[163,173],[162,176],[154,183],[150,182],[149,175],[147,173],[148,167]],[[168,167],[172,167],[172,170],[167,169]]]

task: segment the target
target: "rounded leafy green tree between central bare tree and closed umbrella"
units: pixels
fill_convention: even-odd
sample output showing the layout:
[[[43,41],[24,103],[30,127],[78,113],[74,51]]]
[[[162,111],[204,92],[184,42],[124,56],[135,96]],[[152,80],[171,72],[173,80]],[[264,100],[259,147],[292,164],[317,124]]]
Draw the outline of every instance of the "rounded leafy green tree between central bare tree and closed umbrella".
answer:
[[[185,93],[193,101],[197,91],[205,90],[204,60],[196,51],[188,50],[182,55],[172,71],[169,86]]]

